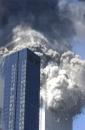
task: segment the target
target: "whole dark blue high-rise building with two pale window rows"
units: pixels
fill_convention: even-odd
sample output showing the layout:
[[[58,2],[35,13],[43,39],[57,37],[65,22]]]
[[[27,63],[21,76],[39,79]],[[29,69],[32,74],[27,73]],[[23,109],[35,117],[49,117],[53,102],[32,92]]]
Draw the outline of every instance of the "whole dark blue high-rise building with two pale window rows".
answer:
[[[40,58],[28,49],[6,57],[4,130],[39,130]]]

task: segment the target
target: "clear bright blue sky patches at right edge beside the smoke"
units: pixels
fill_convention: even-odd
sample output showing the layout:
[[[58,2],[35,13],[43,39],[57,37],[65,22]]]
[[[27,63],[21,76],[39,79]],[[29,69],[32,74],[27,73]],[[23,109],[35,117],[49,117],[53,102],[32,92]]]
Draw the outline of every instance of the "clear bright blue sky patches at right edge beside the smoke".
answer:
[[[85,43],[83,41],[74,43],[73,50],[79,54],[82,59],[85,59]],[[85,109],[82,113],[74,118],[73,130],[85,130]]]

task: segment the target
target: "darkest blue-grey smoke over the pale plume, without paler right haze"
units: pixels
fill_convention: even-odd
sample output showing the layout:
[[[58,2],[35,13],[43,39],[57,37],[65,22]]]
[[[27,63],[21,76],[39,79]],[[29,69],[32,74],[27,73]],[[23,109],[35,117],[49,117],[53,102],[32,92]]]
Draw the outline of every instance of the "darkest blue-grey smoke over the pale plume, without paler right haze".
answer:
[[[1,1],[0,23],[5,27],[1,28],[0,46],[12,41],[13,28],[27,25],[45,35],[52,44],[65,44],[66,48],[71,48],[68,43],[75,35],[73,21],[63,17],[60,7],[58,0]]]

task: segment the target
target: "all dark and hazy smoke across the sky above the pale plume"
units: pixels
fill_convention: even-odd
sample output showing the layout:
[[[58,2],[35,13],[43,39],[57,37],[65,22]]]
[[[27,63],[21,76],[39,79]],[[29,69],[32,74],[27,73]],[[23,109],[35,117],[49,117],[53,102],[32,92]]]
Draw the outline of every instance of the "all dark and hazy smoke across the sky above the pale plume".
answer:
[[[54,46],[65,44],[65,50],[71,48],[71,42],[81,40],[85,34],[85,2],[75,1],[0,0],[0,46],[12,41],[17,25],[27,25]]]

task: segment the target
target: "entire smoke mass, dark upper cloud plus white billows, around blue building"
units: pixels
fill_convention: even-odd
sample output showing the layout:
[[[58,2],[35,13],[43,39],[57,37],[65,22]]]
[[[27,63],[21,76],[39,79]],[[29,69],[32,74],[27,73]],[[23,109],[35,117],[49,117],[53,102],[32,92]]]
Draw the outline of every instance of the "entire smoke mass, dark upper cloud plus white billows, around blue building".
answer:
[[[18,2],[16,12],[11,2],[5,4],[9,7],[4,7],[8,10],[8,24],[0,30],[0,38],[1,43],[10,46],[0,53],[10,54],[28,47],[38,54],[41,97],[48,109],[76,115],[85,105],[85,61],[69,50],[74,38],[84,37],[84,4],[22,1],[14,2]]]

